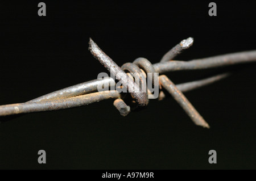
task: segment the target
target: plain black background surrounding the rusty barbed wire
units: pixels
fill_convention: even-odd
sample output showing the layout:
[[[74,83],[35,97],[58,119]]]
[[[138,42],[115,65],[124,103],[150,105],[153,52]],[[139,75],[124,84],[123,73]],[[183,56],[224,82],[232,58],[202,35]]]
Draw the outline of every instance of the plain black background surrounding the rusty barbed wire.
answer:
[[[106,72],[88,50],[89,37],[120,66],[138,57],[158,62],[189,36],[195,42],[178,60],[256,49],[253,1],[214,1],[212,17],[210,1],[43,1],[45,17],[39,2],[0,3],[0,104]],[[195,126],[171,97],[127,117],[113,100],[31,113],[0,124],[0,169],[256,169],[256,66],[236,68],[232,77],[185,93],[210,129]],[[167,75],[181,83],[215,72]],[[47,164],[38,163],[41,149]],[[217,164],[210,165],[212,149]]]

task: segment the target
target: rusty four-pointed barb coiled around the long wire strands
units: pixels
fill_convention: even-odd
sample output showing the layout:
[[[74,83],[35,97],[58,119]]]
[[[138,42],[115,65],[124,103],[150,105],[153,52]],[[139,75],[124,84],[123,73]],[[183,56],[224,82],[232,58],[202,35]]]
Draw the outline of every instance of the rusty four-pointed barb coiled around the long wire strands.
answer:
[[[191,39],[187,39],[189,42],[191,42]],[[186,45],[185,48],[187,49],[188,45],[187,43],[181,41],[182,43],[178,44],[175,48],[175,53],[178,54],[177,49],[180,48],[180,51],[183,50],[184,44]],[[193,43],[193,41],[192,41]],[[110,71],[110,73],[114,73],[115,78],[120,81],[123,86],[127,87],[127,90],[130,92],[131,96],[133,96],[135,102],[137,102],[138,108],[144,108],[148,104],[148,92],[142,92],[142,89],[140,85],[144,85],[145,82],[143,81],[143,78],[139,74],[142,74],[141,69],[145,73],[151,73],[152,77],[151,79],[154,79],[155,76],[155,68],[151,64],[150,61],[148,61],[146,58],[137,58],[133,63],[126,63],[122,66],[122,68],[119,68],[117,64],[109,57],[107,56],[92,39],[89,41],[89,50],[93,54],[93,56],[101,62],[102,65],[105,66],[107,70]],[[170,50],[172,51],[172,49]],[[170,55],[170,52],[167,52],[167,54]],[[165,60],[167,60],[167,56],[164,56]],[[135,77],[139,80],[139,83],[134,82],[126,72],[135,73]],[[157,77],[158,78],[158,77]],[[180,104],[180,106],[184,109],[184,111],[188,114],[189,117],[191,117],[192,121],[196,125],[201,125],[202,127],[209,128],[208,123],[203,119],[203,117],[195,110],[195,108],[192,106],[192,104],[188,101],[187,98],[183,95],[183,93],[176,87],[176,85],[171,82],[170,79],[166,77],[166,75],[161,75],[159,77],[160,84],[168,91],[170,94],[174,97],[174,99],[177,101],[177,103]],[[153,83],[154,81],[151,80]],[[131,87],[135,89],[131,89]],[[139,92],[133,92],[133,91],[139,91]],[[129,106],[119,98],[119,100],[114,102],[114,106],[117,108],[117,110],[121,113],[121,115],[126,116],[130,112]]]

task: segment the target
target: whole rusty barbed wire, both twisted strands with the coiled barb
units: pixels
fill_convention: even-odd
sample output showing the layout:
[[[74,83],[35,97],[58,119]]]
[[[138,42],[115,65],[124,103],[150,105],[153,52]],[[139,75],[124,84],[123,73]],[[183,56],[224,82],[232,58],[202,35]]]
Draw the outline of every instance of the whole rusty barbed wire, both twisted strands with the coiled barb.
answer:
[[[168,71],[179,70],[199,70],[209,68],[219,68],[234,64],[243,64],[256,61],[256,50],[247,52],[224,54],[221,56],[214,56],[209,58],[202,58],[191,61],[176,61],[174,58],[188,49],[193,44],[193,38],[182,40],[174,48],[164,54],[159,63],[151,64],[146,58],[137,58],[133,63],[126,63],[119,67],[115,62],[105,54],[92,39],[89,41],[89,50],[93,56],[100,61],[105,68],[113,73],[115,79],[122,83],[121,87],[124,87],[129,93],[119,92],[117,90],[112,91],[98,91],[98,86],[115,86],[115,79],[112,77],[105,77],[104,79],[95,79],[80,83],[75,86],[67,87],[55,92],[51,92],[47,95],[40,96],[39,98],[30,100],[25,103],[8,104],[0,106],[0,116],[15,115],[19,113],[31,113],[40,111],[53,111],[63,110],[66,108],[80,107],[100,100],[114,99],[114,106],[120,112],[122,116],[127,116],[131,110],[140,110],[145,108],[149,102],[148,97],[152,95],[152,92],[143,92],[141,86],[144,82],[143,78],[140,78],[139,83],[135,82],[133,78],[129,76],[129,73],[143,73],[146,78],[146,73],[159,73],[163,74]],[[158,76],[158,74],[156,74]],[[156,76],[155,74],[152,76]],[[204,79],[181,83],[175,85],[166,75],[160,75],[156,77],[159,80],[160,94],[159,100],[165,98],[164,91],[170,93],[172,97],[180,104],[187,115],[192,119],[193,123],[200,125],[204,128],[210,128],[208,123],[203,117],[196,111],[195,107],[185,97],[183,92],[194,90],[202,86],[209,85],[210,83],[219,81],[225,77],[228,77],[230,73],[222,73],[214,75],[213,77],[207,77]],[[151,77],[151,79],[154,79]],[[148,85],[146,85],[148,86]]]

